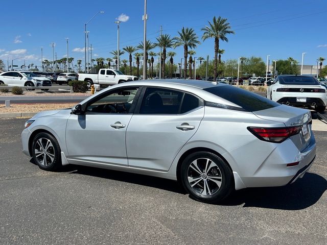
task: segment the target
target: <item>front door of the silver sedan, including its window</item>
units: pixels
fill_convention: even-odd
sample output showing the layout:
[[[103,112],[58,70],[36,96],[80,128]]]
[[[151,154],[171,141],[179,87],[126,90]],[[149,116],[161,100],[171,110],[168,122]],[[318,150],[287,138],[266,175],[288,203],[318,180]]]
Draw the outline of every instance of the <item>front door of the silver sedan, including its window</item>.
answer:
[[[108,90],[82,105],[85,114],[72,114],[66,126],[68,162],[127,166],[125,137],[136,94],[137,87]]]

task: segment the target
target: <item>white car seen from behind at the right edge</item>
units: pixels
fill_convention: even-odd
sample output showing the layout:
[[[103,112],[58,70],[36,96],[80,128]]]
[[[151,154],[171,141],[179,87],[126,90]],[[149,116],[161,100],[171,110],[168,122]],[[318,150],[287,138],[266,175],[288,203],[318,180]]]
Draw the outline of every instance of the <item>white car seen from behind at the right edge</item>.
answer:
[[[267,88],[267,98],[281,104],[314,108],[323,112],[327,104],[326,89],[311,76],[280,75]]]

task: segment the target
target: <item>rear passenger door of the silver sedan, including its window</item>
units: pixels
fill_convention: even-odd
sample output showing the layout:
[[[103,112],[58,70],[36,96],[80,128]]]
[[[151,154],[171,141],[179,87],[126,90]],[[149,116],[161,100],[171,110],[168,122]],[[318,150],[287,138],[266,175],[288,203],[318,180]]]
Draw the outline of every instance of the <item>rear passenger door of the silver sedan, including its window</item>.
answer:
[[[144,88],[142,93],[126,133],[128,165],[168,171],[197,131],[204,116],[203,101],[184,91],[158,87]]]

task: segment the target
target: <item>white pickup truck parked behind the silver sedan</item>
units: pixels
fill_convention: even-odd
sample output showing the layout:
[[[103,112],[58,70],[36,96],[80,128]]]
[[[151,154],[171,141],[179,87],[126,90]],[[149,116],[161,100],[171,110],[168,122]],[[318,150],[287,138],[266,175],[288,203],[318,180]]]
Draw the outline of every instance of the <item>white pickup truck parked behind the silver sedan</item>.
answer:
[[[100,69],[98,74],[78,74],[78,80],[87,82],[88,87],[92,84],[114,85],[137,79],[135,76],[124,75],[120,70],[115,69]]]

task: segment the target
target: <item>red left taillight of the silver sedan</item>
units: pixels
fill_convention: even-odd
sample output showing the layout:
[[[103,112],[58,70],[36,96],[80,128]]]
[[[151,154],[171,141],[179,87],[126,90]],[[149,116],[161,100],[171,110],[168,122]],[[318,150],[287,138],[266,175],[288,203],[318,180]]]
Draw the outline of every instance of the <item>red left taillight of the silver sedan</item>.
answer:
[[[286,128],[257,128],[247,127],[247,129],[258,139],[273,143],[282,143],[287,138],[298,134],[302,126]]]

